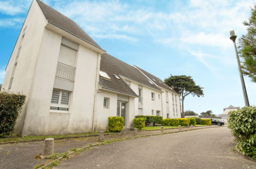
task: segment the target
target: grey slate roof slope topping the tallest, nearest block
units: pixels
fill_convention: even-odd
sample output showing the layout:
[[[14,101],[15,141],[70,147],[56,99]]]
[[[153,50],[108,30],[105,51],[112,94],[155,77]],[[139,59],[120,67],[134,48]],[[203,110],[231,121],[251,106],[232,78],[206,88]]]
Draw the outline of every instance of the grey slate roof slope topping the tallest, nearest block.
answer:
[[[49,7],[45,3],[36,0],[37,4],[41,8],[45,18],[48,23],[86,41],[87,43],[93,45],[96,48],[103,50],[80,26],[78,26],[73,20],[67,16],[61,14],[55,9]],[[103,50],[104,51],[104,50]]]

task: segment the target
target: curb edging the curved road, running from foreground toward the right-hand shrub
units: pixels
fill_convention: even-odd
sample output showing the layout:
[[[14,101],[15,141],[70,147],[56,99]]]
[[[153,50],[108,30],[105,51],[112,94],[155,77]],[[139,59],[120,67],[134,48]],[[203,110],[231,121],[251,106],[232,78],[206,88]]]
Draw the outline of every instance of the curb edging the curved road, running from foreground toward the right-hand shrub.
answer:
[[[190,130],[184,130],[184,131],[181,130],[181,131],[174,131],[174,132],[162,132],[162,133],[156,133],[156,134],[148,134],[148,135],[137,135],[137,136],[130,136],[130,137],[125,137],[125,138],[119,138],[119,139],[117,139],[117,141],[124,141],[124,140],[133,139],[133,138],[142,138],[142,137],[157,136],[157,135],[164,135],[164,134],[171,134],[171,133],[187,132],[187,131],[192,131],[192,130],[202,130],[202,129],[210,129],[210,128],[223,128],[223,127],[224,127],[224,125],[223,126],[210,126],[208,128],[190,129]],[[111,140],[109,140],[109,141],[111,141]],[[113,141],[113,142],[117,142],[117,141]],[[111,143],[111,142],[109,142],[109,143]],[[82,148],[77,149],[77,151],[81,151],[83,149],[88,149],[88,148],[91,148],[91,147],[94,147],[94,146],[99,146],[99,145],[104,145],[104,144],[109,144],[109,143],[104,143],[103,142],[103,143],[95,143],[95,144],[92,144],[92,145],[86,145],[86,146],[84,146]],[[67,153],[68,153],[67,155],[70,156],[70,155],[74,154],[75,151],[68,151]],[[39,167],[39,168],[42,169],[42,168],[48,167],[53,162],[60,161],[62,159],[63,159],[63,157],[59,157],[56,160],[50,161],[48,163],[45,163],[44,166]]]

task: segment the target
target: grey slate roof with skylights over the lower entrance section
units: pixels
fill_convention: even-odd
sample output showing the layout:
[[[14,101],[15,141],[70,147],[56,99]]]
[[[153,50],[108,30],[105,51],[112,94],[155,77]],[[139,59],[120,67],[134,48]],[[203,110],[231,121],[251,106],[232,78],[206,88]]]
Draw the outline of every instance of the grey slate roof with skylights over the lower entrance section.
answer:
[[[119,80],[114,77],[114,74],[116,74],[139,82],[142,85],[148,86],[156,91],[162,92],[161,89],[155,85],[152,85],[148,81],[148,78],[145,77],[139,70],[107,53],[102,54],[100,70],[106,72],[111,78],[111,80],[102,77],[100,78],[100,85],[104,89],[137,96],[122,78]]]

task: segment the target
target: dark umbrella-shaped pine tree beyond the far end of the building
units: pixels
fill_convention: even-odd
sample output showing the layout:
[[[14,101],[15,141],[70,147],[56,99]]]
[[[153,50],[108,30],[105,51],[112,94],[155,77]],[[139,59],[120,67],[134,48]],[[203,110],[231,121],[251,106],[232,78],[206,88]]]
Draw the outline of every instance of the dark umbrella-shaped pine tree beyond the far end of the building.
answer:
[[[182,115],[184,114],[184,99],[188,95],[192,96],[204,96],[203,88],[199,85],[195,85],[194,80],[191,76],[180,75],[170,76],[164,80],[164,82],[172,88],[175,92],[179,93],[182,101]]]

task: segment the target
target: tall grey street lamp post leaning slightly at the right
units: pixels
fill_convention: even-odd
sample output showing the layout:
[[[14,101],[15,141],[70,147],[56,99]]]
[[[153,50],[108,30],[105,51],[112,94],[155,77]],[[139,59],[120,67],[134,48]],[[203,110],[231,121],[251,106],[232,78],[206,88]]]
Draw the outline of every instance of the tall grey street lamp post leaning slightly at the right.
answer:
[[[249,100],[248,100],[248,96],[247,96],[247,92],[246,92],[246,87],[245,87],[245,83],[244,83],[244,77],[243,77],[242,70],[241,70],[240,60],[239,60],[239,56],[238,56],[238,49],[237,49],[237,45],[235,44],[235,39],[236,38],[237,38],[237,35],[235,35],[234,30],[231,30],[230,31],[230,39],[234,43],[234,50],[235,50],[235,54],[237,55],[238,69],[239,69],[239,73],[240,73],[240,80],[241,80],[241,83],[242,83],[244,102],[245,102],[245,106],[249,107],[250,104],[249,104]]]

